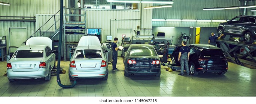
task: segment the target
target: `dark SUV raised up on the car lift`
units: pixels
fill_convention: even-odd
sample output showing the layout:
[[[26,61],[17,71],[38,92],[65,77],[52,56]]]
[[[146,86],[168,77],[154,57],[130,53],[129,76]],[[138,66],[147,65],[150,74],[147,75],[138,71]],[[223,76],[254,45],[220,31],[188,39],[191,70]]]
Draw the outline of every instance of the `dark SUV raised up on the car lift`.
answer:
[[[255,23],[256,16],[236,16],[225,23],[219,23],[217,32],[219,34],[224,32],[224,36],[221,38],[225,38],[226,35],[243,37],[245,43],[252,44],[256,39]]]

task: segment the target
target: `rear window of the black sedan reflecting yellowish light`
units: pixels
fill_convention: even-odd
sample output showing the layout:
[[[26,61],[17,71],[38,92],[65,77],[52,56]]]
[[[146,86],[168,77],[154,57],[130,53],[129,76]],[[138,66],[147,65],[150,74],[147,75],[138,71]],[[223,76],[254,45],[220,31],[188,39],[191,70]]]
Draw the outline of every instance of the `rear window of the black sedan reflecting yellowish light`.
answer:
[[[141,48],[131,49],[130,56],[156,56],[155,49]]]

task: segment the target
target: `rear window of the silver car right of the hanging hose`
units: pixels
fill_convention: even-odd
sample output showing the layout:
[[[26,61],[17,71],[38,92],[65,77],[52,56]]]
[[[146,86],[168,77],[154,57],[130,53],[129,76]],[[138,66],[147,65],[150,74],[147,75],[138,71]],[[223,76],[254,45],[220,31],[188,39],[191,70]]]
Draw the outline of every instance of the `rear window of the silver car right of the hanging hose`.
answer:
[[[81,58],[102,58],[102,54],[100,50],[77,50],[75,54],[76,59]]]

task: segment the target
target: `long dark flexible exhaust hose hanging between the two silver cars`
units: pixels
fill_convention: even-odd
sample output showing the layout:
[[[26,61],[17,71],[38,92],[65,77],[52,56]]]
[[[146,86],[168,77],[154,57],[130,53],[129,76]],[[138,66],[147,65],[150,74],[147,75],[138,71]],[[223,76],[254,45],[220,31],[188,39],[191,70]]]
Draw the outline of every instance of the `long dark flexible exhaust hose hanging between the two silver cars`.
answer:
[[[76,85],[76,78],[72,85],[63,85],[60,81],[60,59],[61,59],[61,46],[62,46],[62,27],[63,27],[63,0],[60,0],[60,38],[59,38],[59,49],[58,49],[58,64],[57,64],[57,83],[63,88],[72,88]]]

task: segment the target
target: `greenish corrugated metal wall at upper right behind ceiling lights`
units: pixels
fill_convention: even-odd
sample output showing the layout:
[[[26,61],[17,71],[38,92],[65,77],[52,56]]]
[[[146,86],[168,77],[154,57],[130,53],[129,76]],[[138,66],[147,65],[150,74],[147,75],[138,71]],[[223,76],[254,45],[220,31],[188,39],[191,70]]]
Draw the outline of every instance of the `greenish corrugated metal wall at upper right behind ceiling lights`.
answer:
[[[247,1],[247,5],[255,1]],[[153,4],[159,5],[159,4]],[[229,20],[243,14],[244,9],[203,10],[211,7],[243,6],[239,0],[174,0],[173,7],[153,9],[153,19],[196,19],[196,20]],[[254,8],[252,8],[254,9]],[[247,9],[246,14],[251,14]],[[216,27],[219,22],[152,22],[152,26],[174,27]]]

